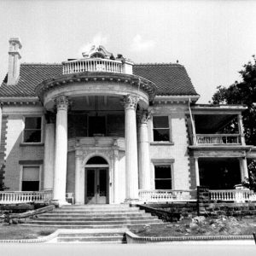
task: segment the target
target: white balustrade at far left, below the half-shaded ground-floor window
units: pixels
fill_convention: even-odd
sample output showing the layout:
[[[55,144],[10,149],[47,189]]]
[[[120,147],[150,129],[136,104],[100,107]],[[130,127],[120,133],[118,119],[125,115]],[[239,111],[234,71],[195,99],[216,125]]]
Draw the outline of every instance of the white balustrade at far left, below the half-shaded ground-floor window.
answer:
[[[0,204],[38,202],[52,199],[52,191],[0,191]]]

